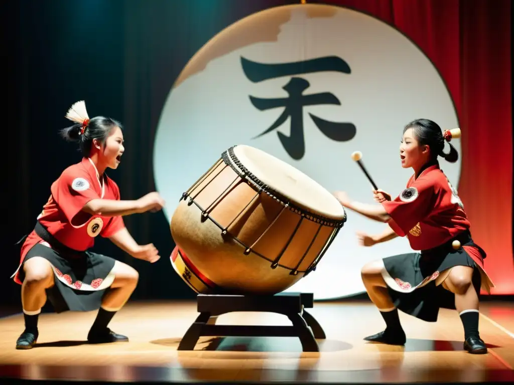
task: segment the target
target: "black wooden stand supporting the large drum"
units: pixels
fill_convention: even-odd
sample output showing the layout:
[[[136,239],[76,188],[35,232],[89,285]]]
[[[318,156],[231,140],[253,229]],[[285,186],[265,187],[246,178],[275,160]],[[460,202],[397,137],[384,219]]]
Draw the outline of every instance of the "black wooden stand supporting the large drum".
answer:
[[[325,339],[318,321],[305,308],[314,307],[313,293],[279,293],[273,296],[206,295],[196,297],[200,313],[178,344],[178,350],[194,350],[203,336],[298,337],[304,352],[319,352],[316,338]],[[291,326],[216,325],[217,316],[231,312],[283,314]]]

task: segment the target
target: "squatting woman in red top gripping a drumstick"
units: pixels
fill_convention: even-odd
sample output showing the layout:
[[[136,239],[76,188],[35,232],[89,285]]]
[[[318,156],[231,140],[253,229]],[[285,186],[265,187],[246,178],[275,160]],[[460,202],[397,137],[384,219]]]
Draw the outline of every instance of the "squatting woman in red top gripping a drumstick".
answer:
[[[358,232],[360,244],[372,246],[407,237],[413,253],[379,259],[363,266],[366,292],[386,322],[386,329],[364,340],[403,345],[406,335],[398,310],[428,322],[437,320],[440,308],[456,309],[464,328],[464,349],[487,353],[479,333],[479,295],[493,283],[485,272],[484,250],[473,242],[464,205],[452,187],[438,157],[456,162],[458,153],[445,142],[460,137],[460,130],[445,130],[433,121],[417,119],[403,128],[400,160],[414,174],[395,198],[373,191],[378,205],[350,199],[335,192],[341,205],[373,220],[387,223],[382,234]]]

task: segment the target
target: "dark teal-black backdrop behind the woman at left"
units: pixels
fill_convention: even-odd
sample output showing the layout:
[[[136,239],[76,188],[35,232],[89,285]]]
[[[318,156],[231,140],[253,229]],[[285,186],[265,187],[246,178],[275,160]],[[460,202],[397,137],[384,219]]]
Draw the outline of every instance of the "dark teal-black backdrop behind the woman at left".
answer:
[[[7,43],[3,57],[8,63],[4,81],[8,102],[3,108],[4,117],[7,116],[3,119],[3,144],[8,148],[8,176],[3,191],[8,194],[5,200],[8,211],[4,216],[7,230],[3,232],[0,304],[20,304],[20,286],[9,279],[20,258],[14,243],[32,230],[48,199],[51,183],[64,168],[81,159],[76,146],[62,140],[58,133],[70,125],[64,115],[71,104],[85,100],[90,117],[105,115],[122,122],[125,155],[117,170],[107,172],[118,183],[122,199],[137,199],[155,189],[152,170],[155,128],[172,85],[190,58],[214,35],[241,18],[269,7],[298,3],[298,0],[2,3],[3,35]],[[378,0],[362,3],[378,4]],[[382,4],[393,3],[386,0]],[[94,249],[140,272],[132,298],[194,298],[195,293],[170,264],[174,243],[164,214],[128,216],[125,223],[137,242],[156,245],[161,255],[157,263],[135,260],[101,237],[96,239]]]

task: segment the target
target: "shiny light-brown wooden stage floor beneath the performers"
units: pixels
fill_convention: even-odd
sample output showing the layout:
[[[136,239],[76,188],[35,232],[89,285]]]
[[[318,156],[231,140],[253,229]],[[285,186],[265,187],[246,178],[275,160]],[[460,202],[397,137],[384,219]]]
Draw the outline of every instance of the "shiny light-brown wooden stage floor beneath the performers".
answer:
[[[194,351],[177,351],[198,315],[195,302],[128,303],[111,328],[130,342],[88,345],[96,312],[40,315],[40,338],[28,351],[14,349],[23,330],[21,314],[0,319],[0,377],[106,382],[507,382],[514,381],[514,305],[481,305],[485,355],[463,350],[455,311],[436,323],[400,313],[405,347],[362,340],[384,328],[369,301],[316,302],[308,310],[326,333],[319,353],[302,353],[295,337],[203,337]],[[216,324],[290,325],[272,313],[230,313]]]

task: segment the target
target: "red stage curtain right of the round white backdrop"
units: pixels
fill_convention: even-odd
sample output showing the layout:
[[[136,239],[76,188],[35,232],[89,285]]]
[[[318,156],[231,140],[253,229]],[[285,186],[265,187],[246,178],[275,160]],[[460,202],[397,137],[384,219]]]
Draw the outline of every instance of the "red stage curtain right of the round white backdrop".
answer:
[[[322,3],[395,26],[443,76],[463,132],[458,192],[472,236],[487,253],[485,268],[495,284],[491,294],[514,294],[510,0]]]

